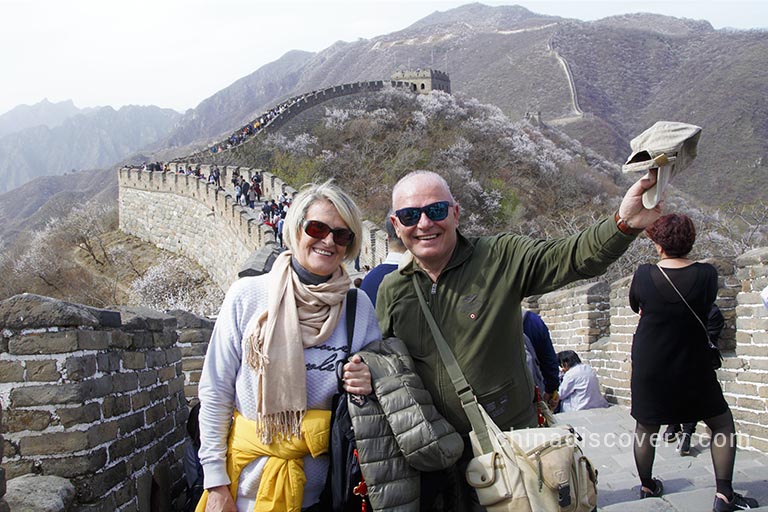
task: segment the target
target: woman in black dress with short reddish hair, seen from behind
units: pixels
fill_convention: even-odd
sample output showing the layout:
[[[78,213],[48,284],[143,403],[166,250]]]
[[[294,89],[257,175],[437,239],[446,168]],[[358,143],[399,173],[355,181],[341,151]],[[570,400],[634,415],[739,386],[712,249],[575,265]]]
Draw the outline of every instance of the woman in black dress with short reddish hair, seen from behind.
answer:
[[[646,234],[660,261],[635,272],[629,304],[640,313],[632,342],[632,417],[635,429],[635,464],[642,484],[641,498],[663,493],[661,480],[652,478],[656,440],[662,424],[694,422],[704,418],[712,431],[712,462],[717,494],[713,510],[742,510],[757,502],[733,492],[736,434],[733,416],[712,369],[706,332],[693,312],[706,321],[717,298],[717,270],[687,258],[696,239],[690,218],[664,215]],[[661,267],[659,269],[658,267]],[[669,279],[685,297],[685,301]],[[747,508],[748,508],[747,507]]]

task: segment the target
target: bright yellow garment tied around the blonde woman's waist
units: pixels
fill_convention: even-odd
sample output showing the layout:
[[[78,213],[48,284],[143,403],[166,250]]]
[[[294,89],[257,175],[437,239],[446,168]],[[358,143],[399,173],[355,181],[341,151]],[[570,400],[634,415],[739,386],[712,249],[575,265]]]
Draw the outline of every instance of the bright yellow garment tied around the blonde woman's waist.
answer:
[[[328,452],[331,411],[310,409],[304,415],[301,435],[264,444],[256,430],[257,423],[235,411],[227,447],[229,491],[237,501],[237,483],[243,468],[258,457],[268,456],[256,494],[254,512],[301,512],[304,500],[304,457]],[[204,491],[195,512],[205,512],[208,491]]]

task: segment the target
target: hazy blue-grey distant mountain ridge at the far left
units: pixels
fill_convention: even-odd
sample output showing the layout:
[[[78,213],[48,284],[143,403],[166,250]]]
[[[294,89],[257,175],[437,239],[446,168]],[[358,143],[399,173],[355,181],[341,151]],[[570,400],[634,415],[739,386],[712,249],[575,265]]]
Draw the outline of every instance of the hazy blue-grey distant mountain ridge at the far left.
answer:
[[[168,134],[180,114],[158,107],[102,107],[0,137],[0,193],[38,176],[105,167]]]

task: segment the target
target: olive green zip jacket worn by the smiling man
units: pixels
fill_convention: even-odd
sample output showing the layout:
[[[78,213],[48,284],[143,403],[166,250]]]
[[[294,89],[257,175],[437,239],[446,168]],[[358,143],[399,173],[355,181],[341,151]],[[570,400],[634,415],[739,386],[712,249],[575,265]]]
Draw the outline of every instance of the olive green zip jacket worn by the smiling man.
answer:
[[[502,429],[536,424],[525,362],[521,300],[605,272],[634,236],[613,218],[576,235],[535,240],[501,234],[458,242],[433,283],[409,253],[384,278],[376,315],[384,337],[403,340],[435,406],[459,433],[471,430],[419,306],[412,275],[475,395]]]

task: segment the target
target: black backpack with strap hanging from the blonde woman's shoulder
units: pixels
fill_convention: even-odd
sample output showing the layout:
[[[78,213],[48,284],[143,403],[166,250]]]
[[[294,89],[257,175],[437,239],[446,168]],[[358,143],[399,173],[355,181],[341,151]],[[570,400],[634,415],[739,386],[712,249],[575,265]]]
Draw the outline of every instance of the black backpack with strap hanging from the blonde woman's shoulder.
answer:
[[[328,447],[328,475],[325,489],[320,496],[322,510],[333,512],[360,512],[373,510],[368,500],[368,488],[360,470],[357,457],[355,431],[347,405],[348,393],[344,391],[341,380],[344,364],[352,352],[352,336],[355,331],[355,312],[357,310],[357,289],[347,293],[347,353],[344,359],[336,362],[336,375],[339,377],[338,389],[331,404],[331,441]],[[350,397],[352,403],[365,404],[365,397]]]

